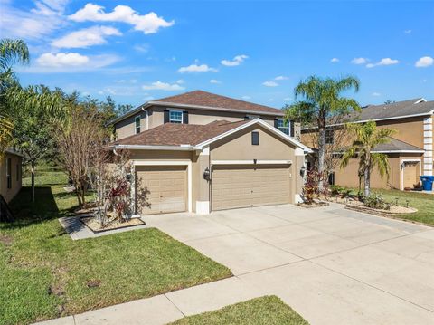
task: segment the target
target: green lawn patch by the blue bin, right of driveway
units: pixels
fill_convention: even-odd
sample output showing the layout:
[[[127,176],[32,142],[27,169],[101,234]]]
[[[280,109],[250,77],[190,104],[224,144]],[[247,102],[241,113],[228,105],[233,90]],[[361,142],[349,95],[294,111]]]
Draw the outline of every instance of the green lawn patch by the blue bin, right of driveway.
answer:
[[[418,212],[413,214],[397,215],[401,219],[417,221],[427,225],[434,225],[434,195],[403,192],[399,190],[378,189],[375,192],[381,193],[386,201],[395,202],[398,198],[398,205],[406,206],[406,200],[409,200],[409,206],[418,209]]]

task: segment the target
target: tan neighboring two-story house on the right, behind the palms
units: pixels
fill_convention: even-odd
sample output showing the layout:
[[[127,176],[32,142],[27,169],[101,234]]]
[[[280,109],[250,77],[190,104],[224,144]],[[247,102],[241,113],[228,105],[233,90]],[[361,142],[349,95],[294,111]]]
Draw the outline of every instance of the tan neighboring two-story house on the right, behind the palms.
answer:
[[[373,188],[397,188],[403,190],[413,187],[420,181],[420,175],[433,175],[433,113],[434,101],[423,98],[405,100],[382,105],[369,105],[355,118],[355,123],[374,120],[379,128],[394,129],[389,143],[375,148],[373,152],[386,154],[391,167],[390,177],[381,177],[373,170]],[[302,142],[309,143],[313,132],[302,130]],[[334,135],[327,134],[327,141]],[[348,139],[348,145],[351,139]],[[338,157],[338,156],[336,156]],[[353,159],[348,167],[336,167],[329,182],[340,186],[357,187],[358,159]]]

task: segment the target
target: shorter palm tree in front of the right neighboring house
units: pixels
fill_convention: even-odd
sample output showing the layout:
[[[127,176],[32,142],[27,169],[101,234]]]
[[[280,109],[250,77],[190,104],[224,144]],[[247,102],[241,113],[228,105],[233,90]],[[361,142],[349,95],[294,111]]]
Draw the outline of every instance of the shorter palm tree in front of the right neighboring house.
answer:
[[[347,129],[355,135],[350,148],[344,152],[341,167],[348,166],[350,159],[359,159],[359,177],[363,177],[364,196],[371,193],[371,173],[377,167],[381,177],[389,177],[391,167],[387,155],[375,153],[373,149],[378,145],[388,143],[393,129],[378,129],[377,124],[371,120],[365,124],[349,124]],[[360,178],[359,178],[360,179]]]

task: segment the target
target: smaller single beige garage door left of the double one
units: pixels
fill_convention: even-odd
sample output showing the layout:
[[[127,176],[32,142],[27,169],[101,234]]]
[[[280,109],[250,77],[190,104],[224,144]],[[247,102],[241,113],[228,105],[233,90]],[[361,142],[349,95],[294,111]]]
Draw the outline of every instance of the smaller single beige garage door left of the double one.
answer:
[[[186,210],[186,166],[136,167],[136,188],[140,215]]]

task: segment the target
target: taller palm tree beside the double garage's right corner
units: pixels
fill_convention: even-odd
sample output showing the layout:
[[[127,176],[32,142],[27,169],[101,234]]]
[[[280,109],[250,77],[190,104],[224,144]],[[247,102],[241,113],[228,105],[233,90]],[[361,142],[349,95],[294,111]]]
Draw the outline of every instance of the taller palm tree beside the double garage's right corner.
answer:
[[[360,81],[354,76],[336,79],[310,76],[307,80],[300,81],[294,90],[296,99],[302,96],[304,100],[297,101],[286,109],[287,119],[296,119],[304,125],[317,129],[317,171],[323,175],[322,179],[327,172],[325,170],[327,122],[336,116],[344,117],[360,110],[357,101],[341,96],[343,91],[352,89],[358,91],[359,86]],[[324,189],[322,180],[319,183],[319,189]]]

